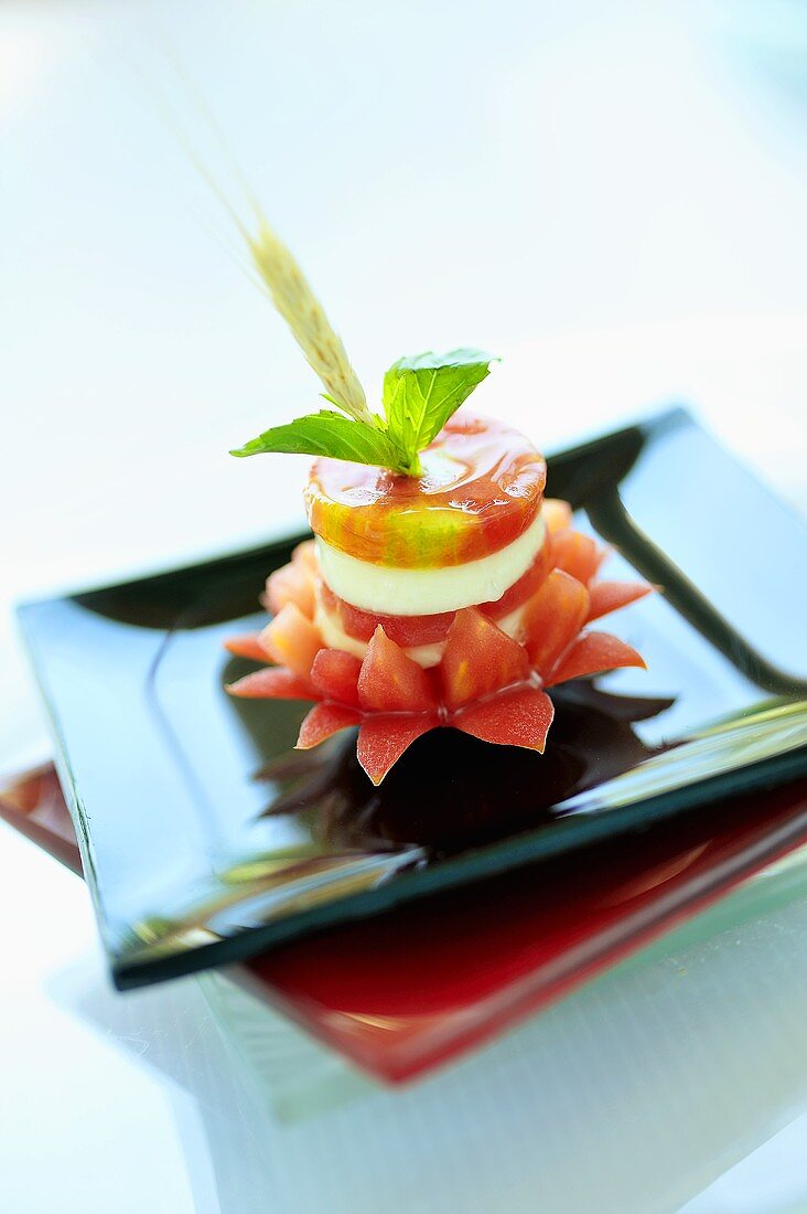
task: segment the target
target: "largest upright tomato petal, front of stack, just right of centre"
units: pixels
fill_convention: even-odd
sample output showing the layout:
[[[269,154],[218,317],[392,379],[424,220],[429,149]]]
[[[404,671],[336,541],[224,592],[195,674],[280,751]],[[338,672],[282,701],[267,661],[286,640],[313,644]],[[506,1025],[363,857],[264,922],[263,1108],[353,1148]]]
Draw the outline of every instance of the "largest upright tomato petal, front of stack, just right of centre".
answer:
[[[523,682],[529,670],[527,649],[476,607],[456,613],[439,665],[447,708]]]

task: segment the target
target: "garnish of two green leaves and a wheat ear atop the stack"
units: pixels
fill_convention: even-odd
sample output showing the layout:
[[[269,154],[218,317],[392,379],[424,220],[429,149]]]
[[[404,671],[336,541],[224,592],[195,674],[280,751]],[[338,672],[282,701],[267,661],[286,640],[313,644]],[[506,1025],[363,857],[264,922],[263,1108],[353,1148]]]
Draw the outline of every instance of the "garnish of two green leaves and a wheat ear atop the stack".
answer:
[[[341,339],[289,249],[265,221],[249,246],[274,306],[325,386],[323,396],[342,412],[322,409],[273,426],[231,454],[329,455],[420,476],[419,453],[485,379],[493,357],[451,350],[399,358],[383,376],[383,416],[371,413]]]

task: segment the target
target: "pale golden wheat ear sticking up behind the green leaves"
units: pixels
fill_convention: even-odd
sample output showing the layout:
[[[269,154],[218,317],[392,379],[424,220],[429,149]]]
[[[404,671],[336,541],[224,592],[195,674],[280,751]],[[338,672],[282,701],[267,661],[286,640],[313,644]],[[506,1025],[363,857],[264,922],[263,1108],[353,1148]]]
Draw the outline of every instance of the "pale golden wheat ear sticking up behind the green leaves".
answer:
[[[364,388],[342,340],[334,333],[291,251],[263,217],[260,219],[257,234],[248,237],[248,243],[272,302],[325,385],[329,399],[357,421],[373,425]]]

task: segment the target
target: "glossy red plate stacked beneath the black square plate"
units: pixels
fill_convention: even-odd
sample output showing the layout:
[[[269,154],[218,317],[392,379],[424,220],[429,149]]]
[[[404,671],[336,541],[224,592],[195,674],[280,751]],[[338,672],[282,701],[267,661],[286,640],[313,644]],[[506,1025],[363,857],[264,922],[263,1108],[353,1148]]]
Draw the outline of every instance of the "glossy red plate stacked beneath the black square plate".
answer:
[[[0,816],[80,872],[52,768]],[[552,1003],[807,843],[807,782],[735,798],[295,941],[229,972],[402,1082]]]

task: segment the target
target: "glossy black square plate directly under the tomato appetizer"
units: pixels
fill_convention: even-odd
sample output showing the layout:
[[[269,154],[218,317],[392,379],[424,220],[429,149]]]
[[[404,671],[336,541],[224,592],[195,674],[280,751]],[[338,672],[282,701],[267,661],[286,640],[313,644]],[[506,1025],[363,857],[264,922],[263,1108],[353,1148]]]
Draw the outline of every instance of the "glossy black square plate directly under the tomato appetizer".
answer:
[[[300,537],[19,609],[114,981],[317,927],[807,773],[807,528],[682,409],[550,459],[549,492],[663,586],[615,617],[648,671],[553,692],[546,754],[426,734],[380,789],[306,705],[234,700]]]

